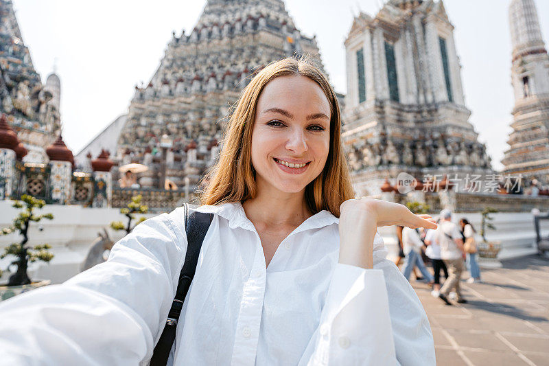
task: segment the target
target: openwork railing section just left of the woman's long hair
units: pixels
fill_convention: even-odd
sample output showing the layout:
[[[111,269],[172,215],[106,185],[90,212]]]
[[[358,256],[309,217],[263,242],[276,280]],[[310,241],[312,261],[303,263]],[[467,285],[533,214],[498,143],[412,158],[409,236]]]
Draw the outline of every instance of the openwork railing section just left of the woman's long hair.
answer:
[[[160,190],[158,188],[120,188],[113,187],[112,207],[122,208],[130,203],[132,196],[141,194],[141,205],[147,205],[149,212],[170,212],[185,202],[196,203],[197,197],[194,188],[190,187],[189,197],[185,197],[185,190]]]

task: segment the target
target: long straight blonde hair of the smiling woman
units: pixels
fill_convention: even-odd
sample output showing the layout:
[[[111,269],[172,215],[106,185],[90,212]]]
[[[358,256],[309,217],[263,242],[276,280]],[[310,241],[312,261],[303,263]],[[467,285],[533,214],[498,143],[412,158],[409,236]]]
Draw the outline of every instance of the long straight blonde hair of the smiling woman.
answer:
[[[341,117],[334,89],[309,58],[284,58],[259,71],[242,91],[229,120],[220,159],[202,181],[207,183],[205,190],[200,193],[200,203],[220,205],[255,198],[257,185],[252,165],[251,141],[257,100],[268,82],[288,75],[305,76],[316,82],[330,105],[328,157],[323,171],[305,187],[307,207],[313,214],[327,209],[339,217],[340,205],[354,197],[341,145]]]

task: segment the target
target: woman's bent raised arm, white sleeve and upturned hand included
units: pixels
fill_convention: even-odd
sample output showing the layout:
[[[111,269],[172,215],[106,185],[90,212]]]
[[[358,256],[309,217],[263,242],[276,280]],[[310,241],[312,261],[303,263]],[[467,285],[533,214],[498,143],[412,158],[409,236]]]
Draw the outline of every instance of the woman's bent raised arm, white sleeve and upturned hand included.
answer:
[[[305,365],[434,365],[427,316],[397,267],[377,255],[377,226],[436,227],[428,216],[377,200],[349,200],[340,258]]]

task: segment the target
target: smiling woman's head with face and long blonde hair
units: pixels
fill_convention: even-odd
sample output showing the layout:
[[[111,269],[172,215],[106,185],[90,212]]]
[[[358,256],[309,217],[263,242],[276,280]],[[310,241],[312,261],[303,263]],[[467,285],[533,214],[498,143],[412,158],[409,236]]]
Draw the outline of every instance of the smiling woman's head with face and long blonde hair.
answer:
[[[327,209],[339,216],[341,203],[354,196],[340,126],[336,94],[311,61],[273,62],[242,93],[202,203],[246,201],[260,186],[267,195],[285,186],[294,193],[305,188],[311,214]]]

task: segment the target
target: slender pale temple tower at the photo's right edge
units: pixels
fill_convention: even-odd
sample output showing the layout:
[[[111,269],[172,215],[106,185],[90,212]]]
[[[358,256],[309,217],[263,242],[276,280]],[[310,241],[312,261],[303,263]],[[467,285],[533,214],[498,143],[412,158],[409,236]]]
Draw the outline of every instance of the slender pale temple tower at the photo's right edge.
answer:
[[[513,132],[502,163],[504,172],[549,183],[549,56],[541,37],[534,0],[509,6],[515,91]]]

